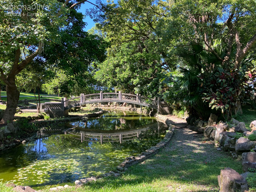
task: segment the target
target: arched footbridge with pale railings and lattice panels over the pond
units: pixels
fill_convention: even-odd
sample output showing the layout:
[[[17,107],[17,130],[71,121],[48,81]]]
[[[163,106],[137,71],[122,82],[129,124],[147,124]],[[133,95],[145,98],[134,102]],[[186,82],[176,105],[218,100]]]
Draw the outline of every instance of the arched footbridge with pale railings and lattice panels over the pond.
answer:
[[[127,94],[119,91],[118,93],[100,93],[95,94],[80,94],[79,97],[71,99],[61,98],[61,102],[50,102],[41,105],[42,110],[50,112],[50,116],[60,117],[67,116],[68,109],[82,106],[89,103],[102,103],[102,102],[118,102],[118,103],[132,103],[135,105],[146,106],[152,109],[157,109],[160,114],[170,113],[169,107],[165,102],[161,101],[160,98],[155,97],[154,99],[144,97],[140,94]],[[168,108],[168,109],[167,109]],[[62,113],[63,114],[62,114]]]

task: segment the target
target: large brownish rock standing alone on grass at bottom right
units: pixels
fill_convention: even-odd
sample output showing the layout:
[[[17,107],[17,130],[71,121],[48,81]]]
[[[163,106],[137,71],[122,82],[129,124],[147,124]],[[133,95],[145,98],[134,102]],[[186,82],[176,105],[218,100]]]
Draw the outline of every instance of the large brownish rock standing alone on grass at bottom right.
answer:
[[[218,183],[220,192],[244,192],[248,190],[245,178],[230,168],[221,170],[221,174],[218,176]]]

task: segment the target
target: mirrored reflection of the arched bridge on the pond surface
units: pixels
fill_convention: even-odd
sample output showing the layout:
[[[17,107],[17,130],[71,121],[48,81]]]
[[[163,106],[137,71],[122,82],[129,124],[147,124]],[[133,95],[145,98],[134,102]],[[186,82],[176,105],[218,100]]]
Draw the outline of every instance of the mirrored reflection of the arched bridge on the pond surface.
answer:
[[[164,124],[158,122],[153,125],[148,125],[147,127],[134,129],[131,131],[114,131],[114,132],[94,132],[90,129],[85,129],[84,131],[80,131],[77,129],[71,129],[69,131],[65,131],[65,135],[71,134],[76,135],[80,139],[81,142],[120,142],[123,143],[128,140],[142,139],[147,135],[157,135],[157,137],[161,136],[161,133],[165,133],[166,128],[162,128]]]

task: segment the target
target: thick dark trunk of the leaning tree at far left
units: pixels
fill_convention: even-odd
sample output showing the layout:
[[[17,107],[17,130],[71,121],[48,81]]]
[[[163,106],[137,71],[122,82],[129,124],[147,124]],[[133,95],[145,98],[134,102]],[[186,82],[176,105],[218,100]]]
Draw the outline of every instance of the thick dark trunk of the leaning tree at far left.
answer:
[[[19,91],[17,90],[15,84],[15,77],[8,77],[7,81],[9,82],[6,85],[6,94],[7,94],[7,104],[4,112],[4,116],[0,123],[7,124],[12,122],[14,115],[16,113],[16,108],[19,101]]]

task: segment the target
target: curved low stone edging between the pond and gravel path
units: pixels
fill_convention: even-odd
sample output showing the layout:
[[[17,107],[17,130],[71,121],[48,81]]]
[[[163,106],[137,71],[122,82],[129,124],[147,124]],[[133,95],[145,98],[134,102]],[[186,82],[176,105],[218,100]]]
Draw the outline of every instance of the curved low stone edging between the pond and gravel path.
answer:
[[[174,133],[174,130],[175,130],[175,126],[172,124],[172,121],[168,119],[168,117],[166,116],[163,116],[163,115],[160,115],[160,114],[156,114],[155,117],[157,118],[158,121],[161,121],[162,123],[165,123],[168,127],[168,130],[166,131],[166,135],[165,137],[163,138],[163,140],[159,143],[157,143],[155,146],[153,147],[150,147],[148,150],[142,152],[139,156],[137,157],[127,157],[125,159],[125,161],[123,161],[120,165],[118,165],[116,167],[116,171],[113,172],[113,171],[110,171],[109,173],[105,173],[105,174],[102,174],[100,176],[93,176],[93,177],[87,177],[87,178],[82,178],[80,180],[76,180],[75,181],[75,184],[77,187],[81,187],[83,184],[87,183],[87,182],[90,182],[90,181],[96,181],[98,179],[101,179],[102,177],[108,177],[108,176],[120,176],[120,173],[124,173],[128,167],[132,166],[132,165],[135,165],[137,163],[140,163],[148,158],[150,158],[152,155],[156,154],[159,149],[165,147],[170,139],[172,138],[173,136],[173,133]],[[53,191],[53,190],[56,190],[58,189],[57,187],[54,187],[54,188],[50,188],[50,191]]]

